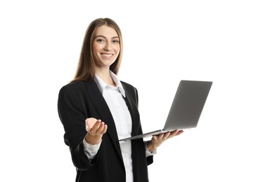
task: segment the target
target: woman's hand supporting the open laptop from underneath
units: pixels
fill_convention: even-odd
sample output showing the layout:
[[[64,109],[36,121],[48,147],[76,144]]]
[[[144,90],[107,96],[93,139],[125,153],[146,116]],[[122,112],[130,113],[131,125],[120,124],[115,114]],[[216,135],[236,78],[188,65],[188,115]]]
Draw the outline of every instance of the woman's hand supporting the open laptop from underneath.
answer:
[[[153,152],[156,148],[158,148],[164,141],[170,139],[174,136],[178,136],[183,133],[183,130],[174,130],[173,132],[166,132],[162,134],[158,134],[152,137],[151,141],[148,142],[148,151]]]

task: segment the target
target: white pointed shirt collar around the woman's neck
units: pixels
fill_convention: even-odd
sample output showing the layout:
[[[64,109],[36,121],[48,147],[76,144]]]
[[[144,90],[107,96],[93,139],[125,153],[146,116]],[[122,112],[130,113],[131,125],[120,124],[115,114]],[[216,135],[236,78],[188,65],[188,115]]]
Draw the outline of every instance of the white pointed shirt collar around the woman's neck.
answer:
[[[119,80],[119,78],[112,71],[110,71],[110,76],[115,82],[115,88],[117,88],[122,94],[122,96],[125,97],[124,88],[122,87],[122,83]],[[94,80],[98,85],[98,88],[101,91],[101,94],[103,94],[103,90],[105,89],[105,87],[113,87],[112,85],[108,85],[107,83],[105,83],[105,81],[103,81],[97,74],[95,74]]]

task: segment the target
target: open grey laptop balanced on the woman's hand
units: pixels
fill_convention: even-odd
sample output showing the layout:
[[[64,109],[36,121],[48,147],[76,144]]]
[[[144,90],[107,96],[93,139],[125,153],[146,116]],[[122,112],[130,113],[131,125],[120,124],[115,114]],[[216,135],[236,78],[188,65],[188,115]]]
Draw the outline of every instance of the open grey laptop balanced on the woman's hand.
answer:
[[[181,80],[163,129],[120,139],[120,141],[197,127],[211,87],[212,81]]]

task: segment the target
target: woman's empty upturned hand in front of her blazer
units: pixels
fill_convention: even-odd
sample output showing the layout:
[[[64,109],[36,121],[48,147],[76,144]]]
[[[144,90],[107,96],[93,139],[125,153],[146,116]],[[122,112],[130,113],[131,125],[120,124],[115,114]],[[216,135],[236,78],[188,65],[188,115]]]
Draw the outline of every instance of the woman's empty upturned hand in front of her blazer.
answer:
[[[87,130],[85,141],[91,145],[99,144],[103,134],[107,132],[108,126],[96,118],[87,118],[87,120],[85,120],[85,125]]]

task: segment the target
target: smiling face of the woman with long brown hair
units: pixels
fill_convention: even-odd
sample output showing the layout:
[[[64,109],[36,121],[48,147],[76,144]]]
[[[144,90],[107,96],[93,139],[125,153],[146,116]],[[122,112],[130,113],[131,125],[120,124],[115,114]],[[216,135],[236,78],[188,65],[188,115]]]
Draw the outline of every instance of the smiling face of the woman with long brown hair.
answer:
[[[92,52],[98,68],[110,67],[120,52],[120,43],[117,31],[103,25],[94,31]]]

